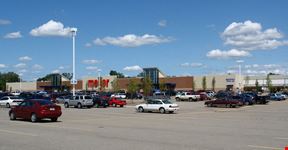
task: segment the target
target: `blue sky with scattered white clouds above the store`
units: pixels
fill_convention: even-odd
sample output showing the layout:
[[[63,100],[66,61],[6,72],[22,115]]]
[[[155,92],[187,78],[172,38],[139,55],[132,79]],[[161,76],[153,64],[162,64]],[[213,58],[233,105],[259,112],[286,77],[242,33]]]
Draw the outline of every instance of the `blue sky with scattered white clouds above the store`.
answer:
[[[31,81],[51,72],[76,78],[288,73],[288,2],[261,0],[15,1],[0,6],[0,72]],[[241,60],[241,61],[239,61]],[[237,62],[238,61],[238,62]]]

